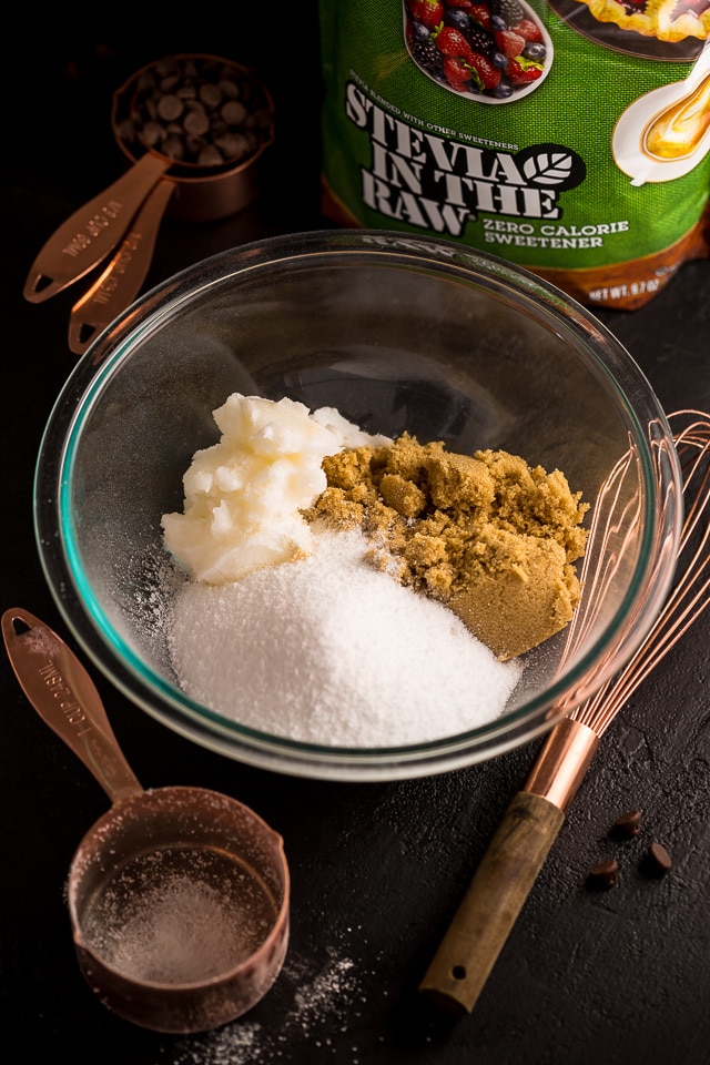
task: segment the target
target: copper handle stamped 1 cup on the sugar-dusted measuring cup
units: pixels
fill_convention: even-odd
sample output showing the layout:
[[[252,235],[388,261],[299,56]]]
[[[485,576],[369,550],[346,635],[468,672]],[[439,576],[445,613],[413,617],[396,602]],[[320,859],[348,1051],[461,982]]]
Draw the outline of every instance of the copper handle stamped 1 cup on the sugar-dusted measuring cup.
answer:
[[[101,697],[74,652],[49,626],[20,607],[2,615],[2,636],[24,694],[93,773],[112,803],[142,794]]]

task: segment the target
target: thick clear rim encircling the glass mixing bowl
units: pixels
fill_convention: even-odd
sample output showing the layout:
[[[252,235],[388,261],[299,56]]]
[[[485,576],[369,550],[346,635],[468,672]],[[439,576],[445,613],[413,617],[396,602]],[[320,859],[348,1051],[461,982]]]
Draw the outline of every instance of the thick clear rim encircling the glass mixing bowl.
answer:
[[[576,337],[588,357],[613,382],[635,428],[646,513],[639,565],[621,610],[602,637],[548,692],[498,721],[460,736],[392,750],[342,749],[271,737],[226,721],[141,662],[112,630],[102,611],[91,604],[88,606],[80,594],[87,582],[75,569],[75,552],[71,536],[67,535],[71,515],[65,500],[71,496],[73,444],[91,409],[92,397],[130,354],[135,339],[174,315],[197,293],[223,283],[230,275],[263,270],[274,261],[297,262],[312,256],[386,258],[393,265],[403,263],[418,268],[435,264],[438,271],[469,280],[473,271],[476,283],[483,287],[515,294],[516,301],[523,300],[531,313],[555,320],[569,336]],[[635,397],[635,407],[629,396]],[[656,426],[661,444],[666,445],[660,474],[658,457],[655,464],[643,428],[650,424]],[[652,486],[655,491],[650,490]],[[661,493],[667,498],[662,514],[652,505]],[[155,720],[217,753],[276,772],[333,780],[394,780],[450,771],[496,757],[547,732],[559,719],[560,714],[556,717],[552,708],[564,694],[594,669],[598,670],[596,687],[600,687],[646,636],[672,580],[674,565],[671,562],[677,554],[681,521],[682,479],[665,412],[638,364],[590,311],[531,272],[494,255],[444,239],[419,239],[384,230],[315,230],[267,237],[217,253],[158,284],[94,339],[69,375],[42,435],[34,478],[34,530],[45,580],[71,633],[115,688]],[[668,550],[669,541],[671,550]],[[662,544],[671,561],[661,564],[659,569],[657,556]],[[639,611],[637,622],[622,646],[615,650],[611,666],[605,652],[612,646],[623,620],[635,610]]]

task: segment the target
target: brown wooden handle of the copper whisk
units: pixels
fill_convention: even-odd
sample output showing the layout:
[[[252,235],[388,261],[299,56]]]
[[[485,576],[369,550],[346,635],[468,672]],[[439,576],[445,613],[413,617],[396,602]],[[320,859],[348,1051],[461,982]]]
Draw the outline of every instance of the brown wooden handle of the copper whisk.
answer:
[[[515,795],[419,985],[428,998],[470,1013],[564,821],[547,799]]]

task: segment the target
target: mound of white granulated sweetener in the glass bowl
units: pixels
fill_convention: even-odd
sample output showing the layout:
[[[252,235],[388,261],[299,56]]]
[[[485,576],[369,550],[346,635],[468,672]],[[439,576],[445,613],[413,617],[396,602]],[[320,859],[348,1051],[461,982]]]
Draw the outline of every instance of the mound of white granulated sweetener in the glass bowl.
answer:
[[[445,606],[366,560],[361,532],[320,530],[297,561],[178,594],[173,666],[192,698],[264,732],[400,747],[497,718],[519,662],[499,662]]]

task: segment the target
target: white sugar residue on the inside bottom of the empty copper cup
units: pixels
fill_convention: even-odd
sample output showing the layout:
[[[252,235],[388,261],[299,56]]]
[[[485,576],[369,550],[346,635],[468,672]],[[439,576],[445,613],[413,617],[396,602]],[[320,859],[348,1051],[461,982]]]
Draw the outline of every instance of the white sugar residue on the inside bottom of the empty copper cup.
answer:
[[[128,861],[82,915],[87,945],[124,976],[185,984],[223,975],[268,935],[278,907],[233,855],[166,846]]]

